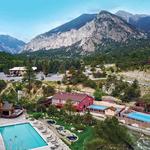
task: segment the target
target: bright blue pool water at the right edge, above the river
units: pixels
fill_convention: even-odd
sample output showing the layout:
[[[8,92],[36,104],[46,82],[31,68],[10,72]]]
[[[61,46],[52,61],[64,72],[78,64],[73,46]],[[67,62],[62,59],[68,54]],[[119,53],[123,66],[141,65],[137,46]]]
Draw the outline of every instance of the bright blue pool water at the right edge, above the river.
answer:
[[[129,118],[136,119],[139,121],[150,122],[150,115],[140,113],[140,112],[131,112],[127,115]]]

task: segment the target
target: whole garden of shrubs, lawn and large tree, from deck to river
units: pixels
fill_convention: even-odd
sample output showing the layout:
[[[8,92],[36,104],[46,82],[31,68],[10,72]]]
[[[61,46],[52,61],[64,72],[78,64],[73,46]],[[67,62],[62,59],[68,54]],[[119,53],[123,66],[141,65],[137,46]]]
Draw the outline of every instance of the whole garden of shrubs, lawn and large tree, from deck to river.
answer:
[[[90,112],[84,114],[77,113],[73,110],[72,104],[68,101],[63,109],[57,109],[50,105],[46,110],[40,107],[38,112],[30,113],[35,119],[44,119],[56,121],[54,127],[61,127],[64,130],[69,130],[72,134],[78,137],[77,140],[66,142],[72,150],[133,150],[134,141],[132,136],[123,125],[120,125],[118,120],[107,118],[105,121],[95,120]]]

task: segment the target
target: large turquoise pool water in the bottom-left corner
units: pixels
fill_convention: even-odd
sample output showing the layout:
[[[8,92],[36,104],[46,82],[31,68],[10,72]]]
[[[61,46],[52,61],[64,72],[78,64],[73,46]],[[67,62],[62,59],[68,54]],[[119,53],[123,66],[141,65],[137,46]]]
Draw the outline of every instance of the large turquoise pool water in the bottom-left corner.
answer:
[[[6,150],[29,150],[47,146],[47,143],[29,124],[18,124],[0,127]]]

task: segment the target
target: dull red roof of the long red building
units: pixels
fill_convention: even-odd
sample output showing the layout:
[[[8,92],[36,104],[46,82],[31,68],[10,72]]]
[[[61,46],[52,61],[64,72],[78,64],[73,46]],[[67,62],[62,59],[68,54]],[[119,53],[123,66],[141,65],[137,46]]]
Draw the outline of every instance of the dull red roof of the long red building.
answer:
[[[59,100],[71,99],[73,101],[82,101],[87,96],[88,96],[87,94],[60,92],[55,94],[53,96],[53,99],[59,99]]]

